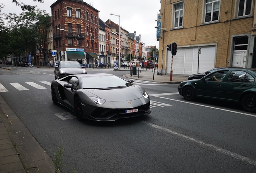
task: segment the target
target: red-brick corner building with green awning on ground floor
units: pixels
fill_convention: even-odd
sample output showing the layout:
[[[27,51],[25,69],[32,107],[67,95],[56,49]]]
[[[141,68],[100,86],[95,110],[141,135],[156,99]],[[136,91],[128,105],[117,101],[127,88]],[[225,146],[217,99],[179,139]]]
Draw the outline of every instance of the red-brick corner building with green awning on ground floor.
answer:
[[[57,0],[52,8],[54,61],[95,64],[99,58],[99,11],[83,0]]]

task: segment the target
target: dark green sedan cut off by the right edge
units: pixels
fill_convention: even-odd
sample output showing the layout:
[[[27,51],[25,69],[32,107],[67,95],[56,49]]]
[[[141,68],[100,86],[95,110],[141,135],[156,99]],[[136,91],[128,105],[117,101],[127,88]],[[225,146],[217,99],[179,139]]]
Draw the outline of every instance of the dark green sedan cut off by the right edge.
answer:
[[[235,101],[249,112],[256,112],[256,69],[228,68],[198,80],[181,82],[178,91],[187,101],[196,97]]]

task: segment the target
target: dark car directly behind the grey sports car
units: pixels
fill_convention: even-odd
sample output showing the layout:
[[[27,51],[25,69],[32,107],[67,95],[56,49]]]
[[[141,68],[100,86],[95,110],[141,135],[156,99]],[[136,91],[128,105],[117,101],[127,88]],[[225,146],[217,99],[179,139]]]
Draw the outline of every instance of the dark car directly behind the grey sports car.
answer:
[[[81,64],[77,61],[60,61],[58,66],[55,66],[54,69],[54,78],[60,79],[70,74],[80,74],[87,73],[85,66],[81,66]]]

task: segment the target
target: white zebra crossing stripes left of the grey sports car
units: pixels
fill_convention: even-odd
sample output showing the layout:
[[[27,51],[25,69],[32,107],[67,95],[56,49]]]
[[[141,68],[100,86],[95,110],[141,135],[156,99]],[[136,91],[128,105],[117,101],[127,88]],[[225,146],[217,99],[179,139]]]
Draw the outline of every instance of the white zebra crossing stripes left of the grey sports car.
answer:
[[[46,85],[49,85],[51,86],[51,82],[47,82],[47,81],[39,81],[41,82],[42,84],[46,84]],[[19,84],[17,82],[14,82],[14,83],[10,83],[12,85],[12,87],[14,87],[15,89],[17,89],[18,91],[26,91],[26,90],[29,90],[27,89],[27,86],[23,86],[22,84]],[[34,87],[36,89],[47,89],[46,87],[43,87],[42,85],[40,84],[37,84],[35,82],[25,82],[25,84],[28,84],[29,86],[31,87]],[[4,87],[3,84],[0,84],[0,93],[3,93],[3,92],[9,92],[8,89],[6,89]]]

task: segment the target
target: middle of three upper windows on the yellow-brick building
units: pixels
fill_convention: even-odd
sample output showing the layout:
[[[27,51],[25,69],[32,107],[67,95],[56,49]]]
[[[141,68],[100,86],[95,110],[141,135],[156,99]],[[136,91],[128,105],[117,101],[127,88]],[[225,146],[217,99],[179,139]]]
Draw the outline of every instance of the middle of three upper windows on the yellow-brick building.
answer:
[[[219,20],[219,0],[206,0],[205,3],[205,22]]]

